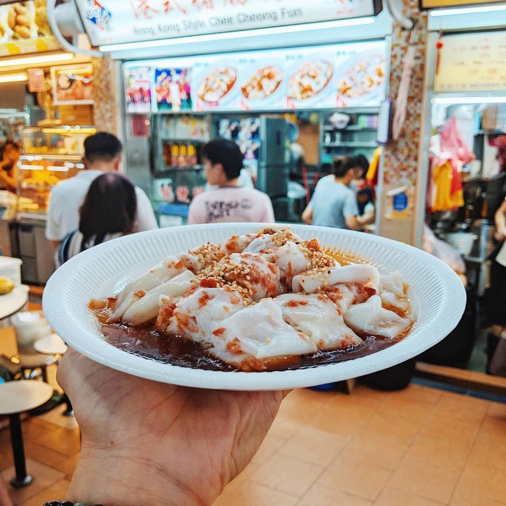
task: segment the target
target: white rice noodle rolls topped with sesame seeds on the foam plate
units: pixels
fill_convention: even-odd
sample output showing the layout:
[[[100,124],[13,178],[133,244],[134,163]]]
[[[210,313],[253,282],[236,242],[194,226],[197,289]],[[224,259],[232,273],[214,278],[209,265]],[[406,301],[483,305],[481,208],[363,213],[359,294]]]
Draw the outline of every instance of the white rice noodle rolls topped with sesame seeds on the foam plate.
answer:
[[[167,343],[197,343],[242,371],[352,353],[371,340],[392,344],[413,326],[399,273],[341,265],[318,240],[288,229],[236,235],[168,257],[90,307],[104,329],[148,327]]]

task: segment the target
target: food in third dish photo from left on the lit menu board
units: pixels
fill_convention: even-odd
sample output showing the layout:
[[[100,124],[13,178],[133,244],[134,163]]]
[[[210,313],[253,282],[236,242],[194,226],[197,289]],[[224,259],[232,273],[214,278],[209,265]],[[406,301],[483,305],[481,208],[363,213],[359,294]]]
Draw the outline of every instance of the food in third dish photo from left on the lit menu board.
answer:
[[[326,60],[303,63],[290,77],[288,97],[292,100],[307,100],[314,97],[328,85],[334,67]]]

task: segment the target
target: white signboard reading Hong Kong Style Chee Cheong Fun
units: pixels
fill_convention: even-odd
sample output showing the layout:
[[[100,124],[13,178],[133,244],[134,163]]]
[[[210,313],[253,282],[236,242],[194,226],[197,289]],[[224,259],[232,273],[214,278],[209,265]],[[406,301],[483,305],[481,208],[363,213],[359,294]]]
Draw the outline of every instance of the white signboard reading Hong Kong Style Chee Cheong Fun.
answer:
[[[372,16],[381,0],[76,0],[92,44]]]

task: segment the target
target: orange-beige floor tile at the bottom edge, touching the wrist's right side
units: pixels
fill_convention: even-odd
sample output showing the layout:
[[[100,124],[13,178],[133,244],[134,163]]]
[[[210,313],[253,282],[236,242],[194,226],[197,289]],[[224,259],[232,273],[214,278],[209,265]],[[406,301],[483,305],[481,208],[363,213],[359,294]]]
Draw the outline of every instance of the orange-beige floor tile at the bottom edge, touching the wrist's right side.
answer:
[[[231,493],[224,492],[213,506],[294,506],[299,497],[249,480]]]

